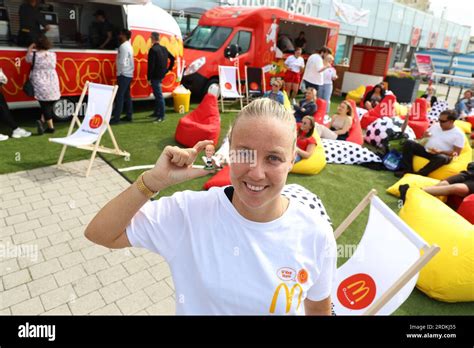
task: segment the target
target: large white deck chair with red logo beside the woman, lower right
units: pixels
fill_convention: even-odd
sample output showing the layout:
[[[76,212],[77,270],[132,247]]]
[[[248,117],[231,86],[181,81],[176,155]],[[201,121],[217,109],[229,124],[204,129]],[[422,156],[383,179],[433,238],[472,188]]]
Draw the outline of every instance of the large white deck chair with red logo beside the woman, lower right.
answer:
[[[337,239],[370,203],[364,235],[336,272],[331,300],[337,315],[393,313],[410,296],[418,272],[440,250],[429,246],[376,194],[369,192],[334,232]]]

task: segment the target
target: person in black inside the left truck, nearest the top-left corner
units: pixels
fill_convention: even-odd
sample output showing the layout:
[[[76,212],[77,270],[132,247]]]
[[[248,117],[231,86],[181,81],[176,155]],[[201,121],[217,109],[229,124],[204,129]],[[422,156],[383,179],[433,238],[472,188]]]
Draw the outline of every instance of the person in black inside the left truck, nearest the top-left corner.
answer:
[[[18,46],[28,47],[36,42],[39,35],[49,30],[43,15],[38,8],[38,0],[26,0],[20,5],[20,31],[18,32]]]

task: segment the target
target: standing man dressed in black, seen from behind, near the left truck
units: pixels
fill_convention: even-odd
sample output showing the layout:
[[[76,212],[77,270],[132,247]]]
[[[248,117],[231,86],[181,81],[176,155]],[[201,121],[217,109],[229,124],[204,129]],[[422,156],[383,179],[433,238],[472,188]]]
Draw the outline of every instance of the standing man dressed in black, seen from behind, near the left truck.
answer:
[[[151,33],[152,46],[148,51],[148,83],[153,89],[155,96],[155,110],[152,117],[156,118],[156,122],[165,120],[165,99],[161,90],[161,81],[166,76],[168,71],[173,69],[174,57],[166,49],[160,45],[160,34],[157,32]],[[168,66],[168,59],[170,61]]]

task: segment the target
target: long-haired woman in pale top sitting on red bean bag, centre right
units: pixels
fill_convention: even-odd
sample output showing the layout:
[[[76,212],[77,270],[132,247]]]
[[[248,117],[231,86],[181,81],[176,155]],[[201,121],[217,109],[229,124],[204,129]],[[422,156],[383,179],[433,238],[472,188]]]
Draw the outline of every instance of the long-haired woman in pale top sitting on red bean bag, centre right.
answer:
[[[344,100],[337,107],[337,114],[331,118],[329,128],[316,125],[316,131],[324,139],[346,140],[353,122],[353,110],[351,104]]]

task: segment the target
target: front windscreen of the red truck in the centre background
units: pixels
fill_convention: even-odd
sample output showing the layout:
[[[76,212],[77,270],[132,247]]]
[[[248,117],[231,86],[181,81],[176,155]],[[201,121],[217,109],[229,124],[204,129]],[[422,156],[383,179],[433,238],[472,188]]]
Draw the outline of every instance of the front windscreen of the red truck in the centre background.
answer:
[[[227,40],[232,28],[216,26],[197,26],[184,42],[185,48],[217,51]]]

